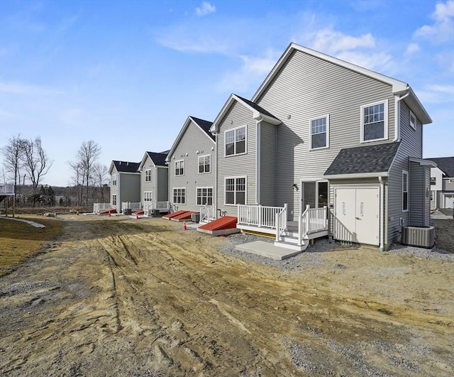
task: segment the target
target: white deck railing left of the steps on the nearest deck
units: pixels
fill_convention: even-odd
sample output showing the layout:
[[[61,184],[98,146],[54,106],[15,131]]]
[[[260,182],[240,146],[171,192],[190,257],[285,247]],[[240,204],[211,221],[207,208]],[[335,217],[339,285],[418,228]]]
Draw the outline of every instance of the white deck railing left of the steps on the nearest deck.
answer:
[[[276,229],[276,217],[281,211],[282,207],[238,204],[238,225]]]

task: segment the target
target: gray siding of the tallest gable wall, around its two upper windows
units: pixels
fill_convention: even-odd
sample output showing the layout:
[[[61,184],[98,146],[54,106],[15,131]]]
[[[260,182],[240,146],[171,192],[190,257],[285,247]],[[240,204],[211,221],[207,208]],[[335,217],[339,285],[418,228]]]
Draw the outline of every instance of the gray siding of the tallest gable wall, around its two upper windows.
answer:
[[[360,143],[362,105],[387,100],[388,138]],[[282,121],[277,126],[276,204],[293,219],[299,192],[292,185],[321,178],[342,148],[389,143],[394,138],[392,87],[300,51],[287,60],[258,104]],[[329,148],[310,150],[309,119],[329,115]],[[292,217],[290,217],[292,219]]]

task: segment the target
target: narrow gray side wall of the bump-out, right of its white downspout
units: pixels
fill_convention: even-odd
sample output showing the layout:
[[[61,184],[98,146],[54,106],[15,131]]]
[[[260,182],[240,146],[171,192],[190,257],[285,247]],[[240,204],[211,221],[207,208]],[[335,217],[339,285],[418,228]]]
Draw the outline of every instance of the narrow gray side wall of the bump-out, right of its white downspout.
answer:
[[[260,204],[275,205],[276,126],[260,123]]]

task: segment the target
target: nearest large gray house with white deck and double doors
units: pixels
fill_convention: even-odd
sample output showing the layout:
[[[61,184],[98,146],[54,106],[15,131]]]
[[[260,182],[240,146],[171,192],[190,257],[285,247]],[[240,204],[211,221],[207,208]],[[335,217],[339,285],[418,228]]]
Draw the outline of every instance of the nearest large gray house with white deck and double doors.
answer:
[[[211,126],[216,208],[279,246],[328,235],[386,249],[429,223],[429,123],[409,84],[291,43]]]

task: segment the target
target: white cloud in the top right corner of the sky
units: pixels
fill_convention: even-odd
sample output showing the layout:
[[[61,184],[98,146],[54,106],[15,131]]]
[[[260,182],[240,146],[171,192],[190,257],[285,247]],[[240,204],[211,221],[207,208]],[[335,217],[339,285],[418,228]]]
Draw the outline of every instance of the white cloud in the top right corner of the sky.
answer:
[[[454,0],[437,3],[432,13],[432,25],[424,25],[414,32],[416,37],[428,38],[434,43],[451,42],[454,35]]]

